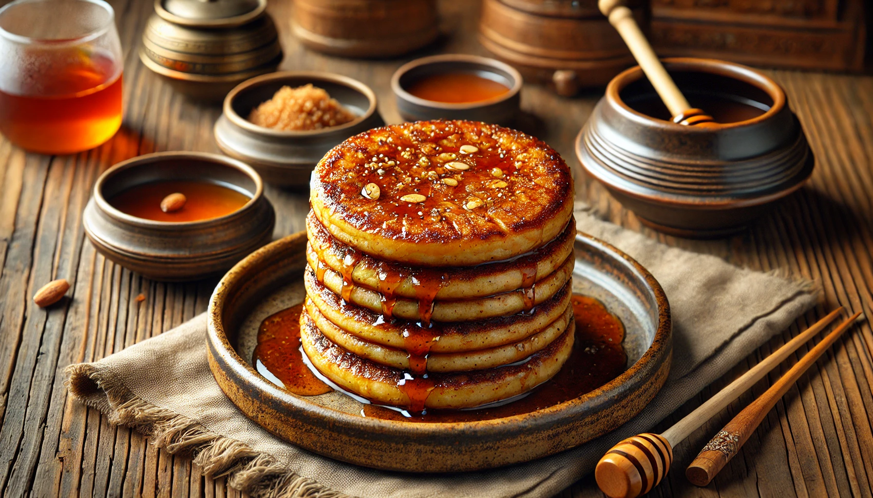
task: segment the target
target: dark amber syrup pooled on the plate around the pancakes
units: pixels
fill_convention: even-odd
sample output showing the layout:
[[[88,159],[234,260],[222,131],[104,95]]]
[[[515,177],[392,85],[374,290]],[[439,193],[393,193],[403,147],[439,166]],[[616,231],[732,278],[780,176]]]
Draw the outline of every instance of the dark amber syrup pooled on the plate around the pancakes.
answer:
[[[438,381],[439,374],[429,374],[427,378],[423,378],[418,374],[407,373],[403,376],[401,387],[413,399],[412,406],[409,406],[409,412],[413,416],[405,417],[395,410],[375,405],[365,405],[362,413],[367,417],[413,422],[491,420],[535,412],[594,391],[625,371],[627,355],[622,347],[624,326],[603,304],[592,297],[574,294],[571,303],[576,326],[573,352],[557,375],[534,388],[526,397],[503,406],[480,410],[427,410],[426,413],[421,413],[424,399]],[[320,380],[308,370],[299,351],[300,312],[301,306],[298,305],[265,319],[258,332],[254,361],[258,365],[258,371],[261,371],[263,365],[286,389],[304,394],[299,387],[289,387],[293,385],[293,379],[305,378],[308,373],[316,382],[320,383]],[[434,330],[438,331],[436,327]],[[425,332],[418,340],[426,341],[428,337],[430,334]],[[306,372],[302,372],[303,370]],[[327,385],[320,385],[325,390],[314,390],[313,393],[330,391]]]

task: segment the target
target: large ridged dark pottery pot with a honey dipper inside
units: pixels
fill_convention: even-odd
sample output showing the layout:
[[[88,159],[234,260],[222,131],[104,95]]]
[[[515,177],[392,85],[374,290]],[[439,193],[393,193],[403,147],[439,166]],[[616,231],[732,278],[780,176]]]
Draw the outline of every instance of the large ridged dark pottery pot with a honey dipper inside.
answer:
[[[576,140],[588,174],[642,222],[671,235],[727,235],[812,174],[806,136],[773,79],[711,59],[668,58],[664,65],[691,106],[702,103],[725,124],[671,122],[636,66],[609,83]]]

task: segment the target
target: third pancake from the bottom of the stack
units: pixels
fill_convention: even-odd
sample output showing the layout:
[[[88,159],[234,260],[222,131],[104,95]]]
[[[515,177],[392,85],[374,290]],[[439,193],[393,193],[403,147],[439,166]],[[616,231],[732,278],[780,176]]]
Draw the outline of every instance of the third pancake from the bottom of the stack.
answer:
[[[411,349],[408,345],[409,327],[415,323],[386,320],[381,313],[343,301],[319,283],[311,270],[307,269],[304,283],[308,297],[306,307],[310,311],[317,308],[340,329],[365,341],[407,351]],[[432,324],[431,335],[439,339],[430,344],[430,352],[476,351],[518,343],[557,320],[567,310],[571,296],[571,285],[567,283],[551,299],[533,308],[532,313],[477,322]]]

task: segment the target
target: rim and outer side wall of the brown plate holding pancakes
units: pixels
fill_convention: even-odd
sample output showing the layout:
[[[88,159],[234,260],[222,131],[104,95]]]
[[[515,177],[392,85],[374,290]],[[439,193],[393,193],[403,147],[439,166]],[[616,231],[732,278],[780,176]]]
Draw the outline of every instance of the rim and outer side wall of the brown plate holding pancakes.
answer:
[[[213,372],[218,384],[222,387],[223,392],[228,395],[230,400],[247,417],[279,437],[290,440],[301,447],[306,447],[306,449],[310,449],[315,453],[325,454],[337,460],[392,470],[415,472],[424,471],[425,469],[391,467],[390,465],[386,466],[373,460],[356,458],[354,455],[342,453],[335,448],[331,449],[330,444],[327,444],[326,447],[323,439],[319,440],[319,444],[314,443],[314,438],[311,434],[300,434],[299,438],[289,438],[287,433],[282,433],[284,431],[277,431],[275,426],[277,422],[270,420],[270,418],[275,417],[276,413],[280,411],[284,412],[287,420],[281,423],[293,426],[295,429],[292,432],[300,430],[300,427],[309,427],[310,430],[314,427],[316,430],[327,431],[327,433],[333,433],[343,438],[368,440],[368,436],[373,435],[377,440],[397,438],[402,440],[404,444],[416,444],[422,441],[425,441],[424,444],[426,444],[426,441],[439,440],[439,438],[444,438],[447,435],[457,439],[459,434],[463,434],[464,440],[482,441],[483,443],[491,444],[505,440],[511,433],[515,436],[520,434],[520,439],[524,440],[526,437],[535,437],[536,433],[548,433],[555,430],[554,427],[556,426],[572,425],[572,420],[577,418],[588,420],[593,414],[615,405],[617,401],[626,401],[625,405],[632,406],[629,408],[629,414],[624,419],[629,420],[642,411],[644,407],[644,403],[636,403],[635,405],[629,398],[636,394],[636,392],[643,391],[643,388],[648,390],[645,397],[648,399],[653,398],[655,393],[660,390],[670,370],[672,351],[670,304],[660,284],[651,276],[649,271],[622,253],[622,251],[595,237],[578,233],[576,236],[577,247],[580,243],[592,249],[600,250],[618,263],[624,264],[625,268],[632,269],[635,276],[643,281],[645,290],[654,297],[657,317],[654,337],[650,347],[643,353],[642,357],[618,378],[580,398],[550,406],[533,413],[502,419],[423,424],[380,420],[369,417],[364,418],[350,413],[343,413],[325,406],[315,405],[304,397],[295,396],[278,388],[276,385],[272,385],[271,382],[261,377],[249,362],[241,358],[231,344],[230,337],[225,329],[223,310],[225,306],[230,306],[230,302],[237,299],[238,296],[244,296],[245,292],[254,292],[258,288],[259,283],[251,278],[252,272],[264,274],[268,269],[275,268],[276,265],[292,261],[294,258],[287,255],[296,254],[306,247],[306,232],[288,235],[264,248],[258,249],[237,263],[218,283],[216,290],[210,298],[207,313],[208,330],[206,340],[209,351],[210,370]],[[302,268],[303,265],[300,266],[301,270]],[[273,285],[278,286],[286,283],[284,281],[273,283]],[[264,294],[266,293],[264,291]],[[615,428],[615,426],[612,428]],[[593,437],[595,436],[588,437],[587,440],[593,439]],[[377,445],[378,442],[376,441]],[[498,467],[519,461],[533,460],[540,456],[546,456],[546,454],[558,453],[569,447],[581,444],[581,442],[566,447],[552,447],[550,450],[533,456],[528,455],[527,457],[520,458],[509,456],[504,459],[486,458],[486,461],[479,462],[478,464],[452,464],[444,468],[426,467],[426,470],[429,472],[451,472]],[[385,442],[385,444],[389,445],[388,442]],[[463,449],[460,451],[463,451]],[[491,452],[493,451],[494,449],[491,447]]]

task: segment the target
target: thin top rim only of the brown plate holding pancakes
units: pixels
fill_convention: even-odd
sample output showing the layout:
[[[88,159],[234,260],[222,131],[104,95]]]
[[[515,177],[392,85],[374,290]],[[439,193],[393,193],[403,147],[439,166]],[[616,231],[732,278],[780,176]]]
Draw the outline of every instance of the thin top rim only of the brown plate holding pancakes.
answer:
[[[228,270],[228,272],[222,277],[221,281],[217,284],[216,289],[213,291],[212,296],[210,297],[210,304],[207,310],[207,342],[209,344],[210,357],[213,354],[217,354],[218,356],[223,357],[223,361],[226,362],[232,369],[237,370],[239,367],[242,367],[245,372],[248,374],[248,379],[246,382],[251,382],[254,385],[257,385],[258,389],[261,392],[265,392],[271,398],[278,400],[280,403],[293,406],[295,409],[301,409],[306,412],[317,413],[321,417],[329,417],[333,419],[337,424],[341,424],[343,426],[365,426],[367,430],[388,430],[388,431],[403,431],[406,433],[414,433],[416,436],[426,436],[426,435],[440,435],[443,434],[446,429],[464,426],[465,430],[475,431],[478,433],[502,433],[504,430],[504,425],[511,422],[517,423],[540,423],[546,424],[549,423],[554,417],[560,418],[565,415],[566,410],[573,409],[581,409],[581,407],[588,404],[588,402],[597,399],[599,397],[605,396],[609,391],[613,391],[615,389],[620,389],[622,385],[626,385],[631,381],[644,381],[640,378],[643,375],[644,369],[652,368],[652,361],[656,358],[657,355],[664,354],[664,350],[667,350],[667,358],[664,359],[666,362],[671,362],[672,355],[672,317],[670,315],[670,303],[667,299],[666,294],[661,287],[661,284],[657,282],[654,276],[651,275],[648,269],[645,269],[642,264],[638,263],[635,259],[625,254],[621,249],[615,248],[612,244],[602,241],[592,235],[585,234],[581,231],[576,231],[576,236],[574,239],[574,245],[579,242],[580,239],[584,239],[585,243],[588,245],[594,246],[596,249],[601,249],[614,256],[616,259],[623,260],[625,263],[628,263],[631,269],[634,269],[637,273],[637,276],[642,277],[643,283],[645,283],[648,290],[651,291],[654,299],[655,299],[655,315],[656,315],[656,329],[655,334],[652,337],[651,344],[643,352],[643,355],[636,360],[633,365],[630,365],[627,370],[622,372],[621,375],[616,377],[615,379],[610,380],[608,383],[601,385],[594,389],[591,392],[587,392],[581,395],[578,398],[569,399],[563,403],[559,403],[557,405],[548,406],[546,408],[537,410],[531,413],[521,413],[518,415],[512,415],[509,417],[503,417],[499,419],[492,420],[473,420],[473,421],[464,421],[464,422],[433,422],[427,424],[419,424],[419,423],[410,423],[402,420],[384,420],[384,419],[376,419],[371,417],[362,418],[360,416],[355,416],[351,413],[344,413],[333,408],[328,408],[326,406],[312,406],[308,404],[306,401],[299,399],[295,395],[285,392],[280,389],[276,385],[272,385],[268,380],[264,379],[255,369],[252,367],[251,363],[246,361],[244,358],[239,356],[237,349],[230,344],[231,335],[228,334],[228,331],[224,330],[224,320],[223,320],[223,306],[229,302],[229,299],[234,297],[234,294],[239,290],[239,284],[230,285],[228,281],[236,280],[237,274],[244,273],[246,271],[246,267],[255,264],[260,258],[266,258],[272,256],[272,253],[281,253],[287,249],[286,246],[290,245],[293,242],[297,242],[299,238],[306,239],[306,230],[300,231],[296,234],[287,235],[278,241],[274,241],[270,244],[265,245],[261,249],[251,253],[251,255],[246,256],[243,260],[237,263],[233,268]],[[213,351],[214,348],[214,351]],[[210,370],[212,368],[214,360],[210,359]],[[237,372],[241,373],[241,372]]]

